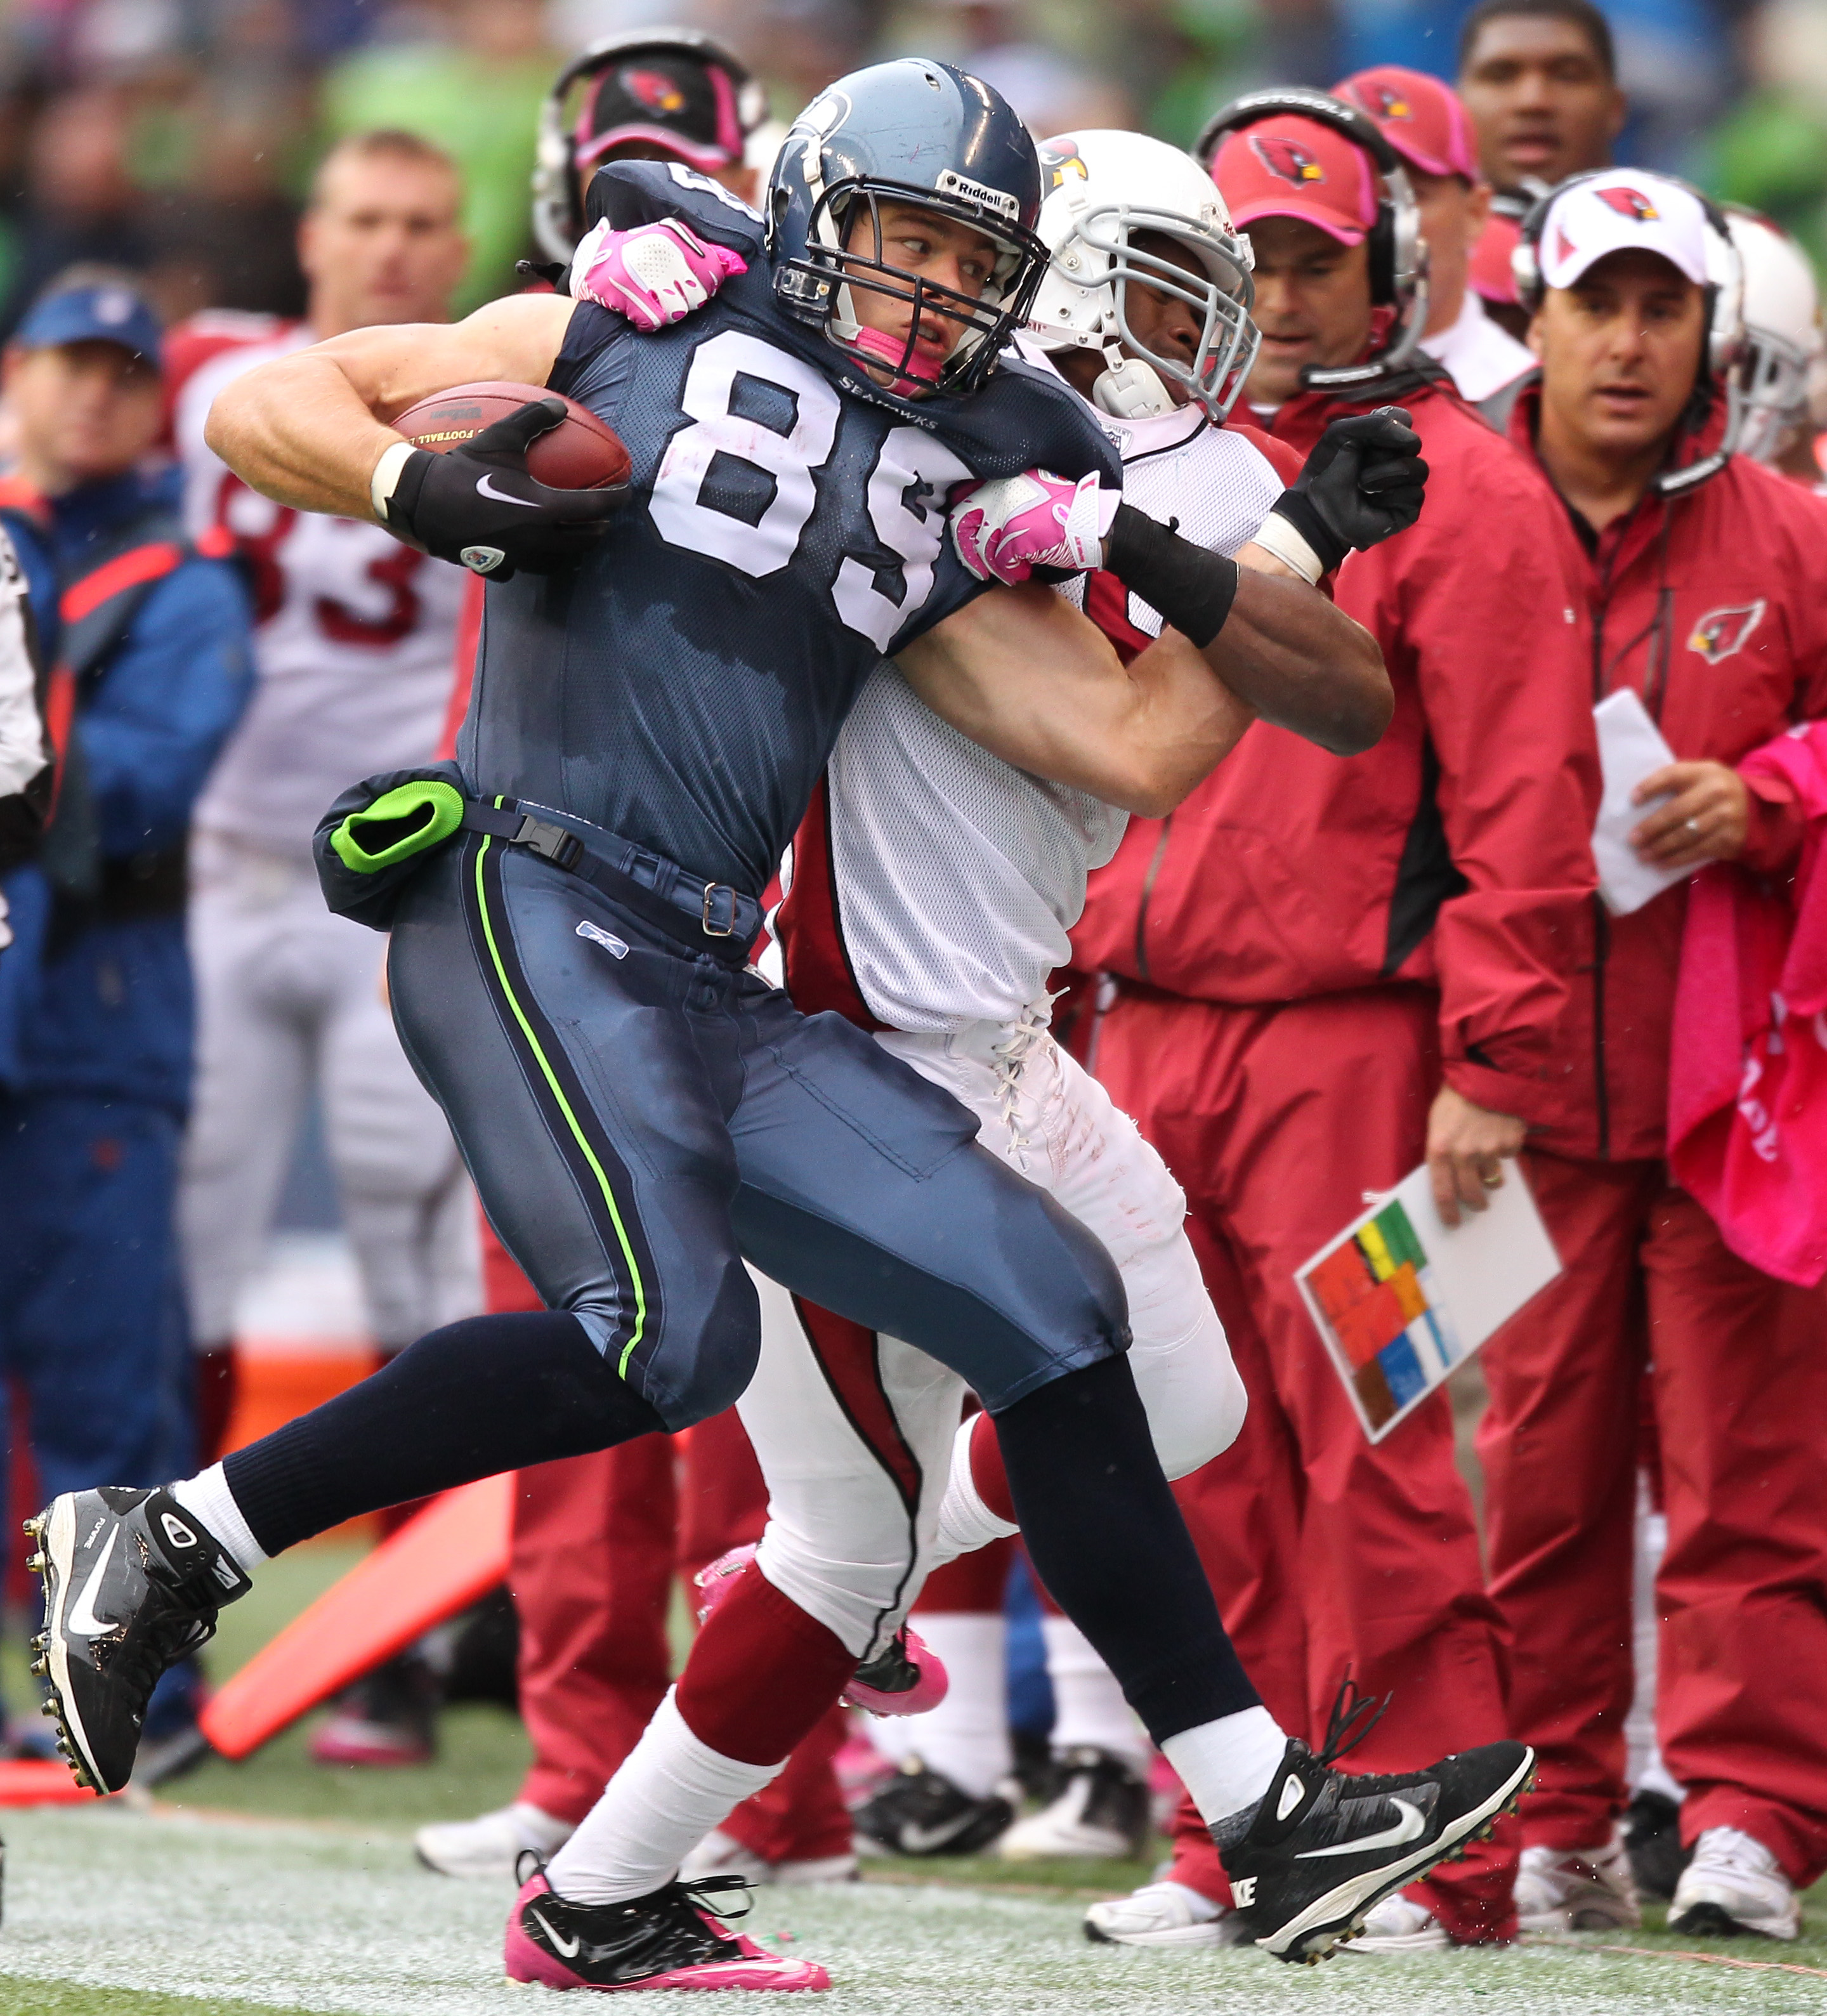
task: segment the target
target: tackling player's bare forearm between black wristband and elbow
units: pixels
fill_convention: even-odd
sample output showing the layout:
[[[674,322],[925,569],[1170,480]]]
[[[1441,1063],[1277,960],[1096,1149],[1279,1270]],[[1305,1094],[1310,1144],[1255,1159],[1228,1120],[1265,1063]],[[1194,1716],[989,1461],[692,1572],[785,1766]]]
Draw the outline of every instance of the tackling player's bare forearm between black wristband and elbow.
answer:
[[[1264,722],[1335,756],[1373,748],[1395,710],[1375,637],[1278,569],[1238,566],[1236,601],[1204,655]]]

